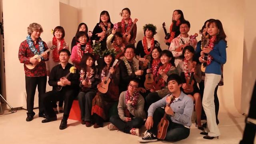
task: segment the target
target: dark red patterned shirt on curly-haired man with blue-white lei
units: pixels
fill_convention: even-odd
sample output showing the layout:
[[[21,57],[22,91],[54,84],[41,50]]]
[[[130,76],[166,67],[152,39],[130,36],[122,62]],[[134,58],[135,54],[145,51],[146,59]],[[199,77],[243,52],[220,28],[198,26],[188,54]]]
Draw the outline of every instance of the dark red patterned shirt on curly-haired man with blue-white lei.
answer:
[[[43,42],[43,44],[44,44],[44,51],[48,50],[46,43]],[[39,52],[38,41],[36,42],[36,44],[34,44],[34,46],[36,47],[37,51]],[[46,60],[41,59],[41,62],[39,64],[37,64],[36,67],[33,68],[32,70],[30,70],[26,67],[25,64],[31,64],[29,60],[34,55],[35,54],[30,50],[30,48],[28,46],[27,40],[24,40],[20,44],[18,57],[19,57],[20,63],[24,63],[25,75],[28,77],[46,76],[46,65],[45,65],[44,61],[49,60],[49,58],[47,58]]]

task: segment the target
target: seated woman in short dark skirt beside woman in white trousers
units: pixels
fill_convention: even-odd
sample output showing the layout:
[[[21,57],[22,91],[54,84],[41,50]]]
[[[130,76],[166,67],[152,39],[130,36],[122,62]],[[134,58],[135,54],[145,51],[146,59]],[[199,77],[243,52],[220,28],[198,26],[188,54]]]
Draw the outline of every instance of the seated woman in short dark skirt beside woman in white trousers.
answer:
[[[195,59],[195,50],[192,46],[186,46],[182,50],[182,56],[184,60],[180,62],[177,66],[179,74],[182,79],[182,91],[188,95],[195,103],[195,111],[196,111],[196,125],[198,125],[198,129],[204,130],[201,124],[201,113],[202,113],[202,101],[200,96],[200,91],[197,86],[197,83],[200,83],[202,78],[201,65],[197,64]],[[193,82],[192,85],[193,91],[186,91],[190,89],[186,82],[192,78],[193,74]]]

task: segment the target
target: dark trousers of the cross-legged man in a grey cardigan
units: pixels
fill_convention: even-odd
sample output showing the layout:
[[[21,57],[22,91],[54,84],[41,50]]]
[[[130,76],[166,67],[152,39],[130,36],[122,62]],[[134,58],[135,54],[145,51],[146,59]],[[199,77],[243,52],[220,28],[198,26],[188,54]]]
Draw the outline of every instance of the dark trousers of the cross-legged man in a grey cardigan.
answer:
[[[134,117],[132,118],[132,120],[124,122],[120,119],[118,115],[115,115],[110,117],[110,122],[114,124],[118,128],[118,130],[130,134],[131,128],[140,128],[143,125],[144,121],[142,118]]]

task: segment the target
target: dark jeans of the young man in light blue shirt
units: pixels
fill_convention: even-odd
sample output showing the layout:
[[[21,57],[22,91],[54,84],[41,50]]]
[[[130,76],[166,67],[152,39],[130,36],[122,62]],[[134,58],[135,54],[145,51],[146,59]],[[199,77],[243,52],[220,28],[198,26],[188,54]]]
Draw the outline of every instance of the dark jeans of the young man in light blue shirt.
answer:
[[[161,118],[164,116],[164,109],[157,108],[153,115],[153,127],[148,130],[148,132],[153,132],[157,134],[157,125],[161,121]],[[166,116],[169,120],[169,126],[167,128],[166,137],[164,140],[166,141],[178,141],[187,138],[190,134],[190,129],[184,127],[182,124],[177,124],[172,122],[170,116]]]

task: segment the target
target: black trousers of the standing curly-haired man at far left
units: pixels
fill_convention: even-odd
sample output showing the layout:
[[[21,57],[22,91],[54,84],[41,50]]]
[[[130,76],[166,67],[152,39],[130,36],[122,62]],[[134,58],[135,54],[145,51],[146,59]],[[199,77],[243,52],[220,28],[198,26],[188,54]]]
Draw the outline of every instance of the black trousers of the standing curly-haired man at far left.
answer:
[[[44,114],[44,107],[42,104],[42,95],[46,92],[46,76],[41,77],[28,77],[25,76],[26,82],[26,93],[27,93],[27,115],[34,116],[35,112],[33,112],[34,108],[34,98],[36,93],[36,86],[38,90],[38,107],[39,107],[39,114]]]

